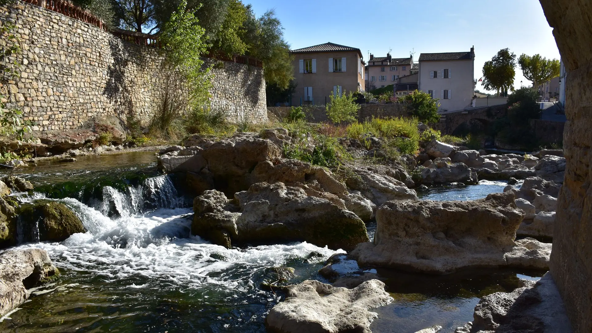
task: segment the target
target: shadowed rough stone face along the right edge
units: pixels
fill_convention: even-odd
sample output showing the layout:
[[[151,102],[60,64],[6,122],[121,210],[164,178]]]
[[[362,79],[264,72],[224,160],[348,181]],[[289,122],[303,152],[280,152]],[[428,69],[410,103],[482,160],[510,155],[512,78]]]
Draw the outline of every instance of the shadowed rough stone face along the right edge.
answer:
[[[551,274],[575,332],[592,332],[592,2],[540,0],[567,70],[564,153]]]

